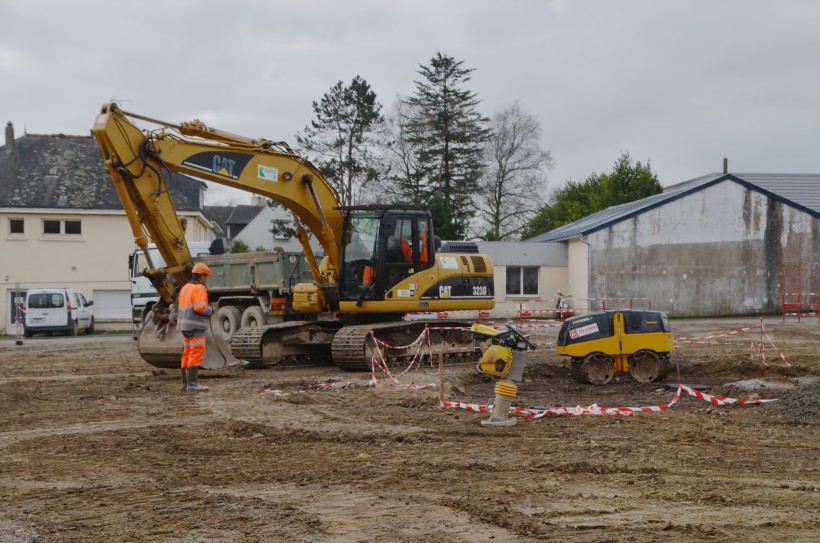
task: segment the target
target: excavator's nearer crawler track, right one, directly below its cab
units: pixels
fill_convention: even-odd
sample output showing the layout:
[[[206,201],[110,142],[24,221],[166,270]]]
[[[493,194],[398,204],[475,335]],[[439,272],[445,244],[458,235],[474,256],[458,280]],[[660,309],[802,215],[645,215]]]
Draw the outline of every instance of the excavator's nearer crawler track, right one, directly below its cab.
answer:
[[[479,344],[470,332],[470,324],[447,321],[442,323],[386,322],[345,326],[333,338],[333,363],[348,371],[370,371],[374,356],[383,357],[391,365],[406,365],[416,356],[419,345],[414,342],[430,328],[430,341],[422,345],[424,354],[442,354],[447,359],[478,359]],[[381,342],[376,349],[376,339]]]

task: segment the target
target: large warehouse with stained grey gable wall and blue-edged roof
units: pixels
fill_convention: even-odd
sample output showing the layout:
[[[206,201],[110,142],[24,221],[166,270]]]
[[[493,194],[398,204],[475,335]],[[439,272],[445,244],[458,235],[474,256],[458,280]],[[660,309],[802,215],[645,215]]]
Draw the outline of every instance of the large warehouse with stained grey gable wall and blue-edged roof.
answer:
[[[578,301],[645,299],[675,317],[778,313],[784,296],[820,290],[820,175],[711,174],[528,241],[568,245]]]

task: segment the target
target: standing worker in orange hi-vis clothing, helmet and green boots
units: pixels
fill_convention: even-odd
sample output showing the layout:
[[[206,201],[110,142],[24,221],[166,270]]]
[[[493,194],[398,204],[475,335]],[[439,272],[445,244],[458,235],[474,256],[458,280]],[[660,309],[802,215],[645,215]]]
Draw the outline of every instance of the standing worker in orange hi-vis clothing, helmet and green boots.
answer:
[[[179,293],[177,330],[182,332],[182,388],[190,392],[208,390],[199,384],[199,366],[205,359],[205,331],[210,326],[213,306],[208,304],[208,289],[205,283],[211,276],[211,269],[198,262],[191,270],[193,276]]]

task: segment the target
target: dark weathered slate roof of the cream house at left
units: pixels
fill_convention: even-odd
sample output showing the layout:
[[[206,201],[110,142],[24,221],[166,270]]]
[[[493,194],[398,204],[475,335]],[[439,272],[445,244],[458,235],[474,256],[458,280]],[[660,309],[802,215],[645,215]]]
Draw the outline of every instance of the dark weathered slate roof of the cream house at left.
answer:
[[[24,135],[0,147],[0,207],[122,209],[102,152],[91,136]],[[179,211],[200,211],[205,183],[173,173]]]

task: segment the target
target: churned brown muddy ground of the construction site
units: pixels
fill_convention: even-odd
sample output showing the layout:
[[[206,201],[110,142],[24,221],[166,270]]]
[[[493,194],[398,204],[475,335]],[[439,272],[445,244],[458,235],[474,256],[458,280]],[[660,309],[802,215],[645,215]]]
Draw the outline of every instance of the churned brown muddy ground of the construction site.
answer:
[[[526,330],[516,405],[661,406],[677,382],[779,400],[487,428],[439,404],[492,401],[474,364],[400,378],[421,389],[228,368],[183,393],[130,336],[6,339],[0,543],[818,541],[820,324],[767,320],[765,364],[759,319],[672,324],[670,387],[580,385],[556,329]]]

